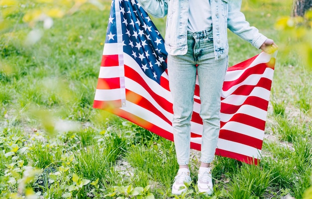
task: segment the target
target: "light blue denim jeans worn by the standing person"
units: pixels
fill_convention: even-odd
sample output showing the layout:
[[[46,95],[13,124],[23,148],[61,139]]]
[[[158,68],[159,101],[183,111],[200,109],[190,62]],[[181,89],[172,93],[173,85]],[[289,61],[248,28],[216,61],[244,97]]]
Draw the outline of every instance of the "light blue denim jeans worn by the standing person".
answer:
[[[215,60],[212,30],[188,32],[185,55],[167,57],[169,86],[173,98],[173,139],[177,162],[187,165],[190,155],[190,120],[193,112],[196,72],[203,120],[200,161],[214,159],[220,131],[221,89],[227,58]]]

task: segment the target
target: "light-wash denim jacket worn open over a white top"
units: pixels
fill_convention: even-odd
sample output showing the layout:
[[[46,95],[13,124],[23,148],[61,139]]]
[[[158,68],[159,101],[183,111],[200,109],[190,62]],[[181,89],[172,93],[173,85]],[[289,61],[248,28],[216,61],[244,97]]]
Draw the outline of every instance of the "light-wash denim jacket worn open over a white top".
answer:
[[[189,0],[138,0],[154,17],[167,15],[165,49],[170,55],[187,52],[187,18]],[[209,0],[211,6],[215,59],[228,55],[227,28],[260,49],[267,39],[259,30],[250,26],[240,11],[241,0]],[[190,1],[191,3],[191,1]]]

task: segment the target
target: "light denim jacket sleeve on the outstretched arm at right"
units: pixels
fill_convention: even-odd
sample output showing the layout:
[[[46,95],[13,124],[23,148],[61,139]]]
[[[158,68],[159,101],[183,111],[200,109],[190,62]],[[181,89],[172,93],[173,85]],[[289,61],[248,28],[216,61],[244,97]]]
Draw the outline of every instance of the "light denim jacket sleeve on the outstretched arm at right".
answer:
[[[245,15],[240,11],[242,1],[229,0],[228,5],[229,11],[227,23],[229,30],[251,43],[251,45],[257,49],[260,49],[261,45],[268,38],[259,33],[259,30],[256,27],[250,26],[249,22],[246,21]]]

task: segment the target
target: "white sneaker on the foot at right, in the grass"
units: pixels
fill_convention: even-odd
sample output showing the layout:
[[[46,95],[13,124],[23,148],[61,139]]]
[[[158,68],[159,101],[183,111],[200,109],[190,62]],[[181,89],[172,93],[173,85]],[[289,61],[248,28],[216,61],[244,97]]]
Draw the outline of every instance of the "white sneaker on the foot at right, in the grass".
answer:
[[[198,172],[197,187],[199,192],[211,195],[213,193],[212,176],[210,168]]]

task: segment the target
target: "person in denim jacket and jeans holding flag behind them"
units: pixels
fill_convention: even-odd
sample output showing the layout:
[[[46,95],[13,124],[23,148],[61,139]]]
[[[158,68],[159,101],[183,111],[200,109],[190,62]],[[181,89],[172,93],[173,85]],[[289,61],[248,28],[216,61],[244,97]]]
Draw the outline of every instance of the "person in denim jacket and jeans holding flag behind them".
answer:
[[[220,131],[221,89],[228,64],[227,29],[257,49],[273,53],[273,40],[250,26],[240,11],[241,0],[139,0],[155,17],[167,15],[165,48],[173,99],[173,137],[179,170],[172,194],[186,190],[190,182],[190,120],[198,74],[203,132],[197,186],[213,192],[210,163],[214,159]]]

